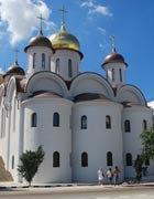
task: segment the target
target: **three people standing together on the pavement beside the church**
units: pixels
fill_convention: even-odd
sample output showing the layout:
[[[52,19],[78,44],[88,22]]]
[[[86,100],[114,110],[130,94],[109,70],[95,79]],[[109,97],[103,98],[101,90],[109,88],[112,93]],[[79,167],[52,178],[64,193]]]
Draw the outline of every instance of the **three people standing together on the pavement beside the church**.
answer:
[[[109,168],[107,170],[106,175],[107,175],[108,182],[110,185],[112,185],[112,181],[113,181],[114,186],[119,184],[119,172],[120,172],[120,170],[119,170],[118,166],[116,166],[116,168],[113,170],[111,168]],[[100,169],[98,169],[99,185],[103,185],[103,179],[105,179],[105,174],[103,174],[102,168],[100,168]]]

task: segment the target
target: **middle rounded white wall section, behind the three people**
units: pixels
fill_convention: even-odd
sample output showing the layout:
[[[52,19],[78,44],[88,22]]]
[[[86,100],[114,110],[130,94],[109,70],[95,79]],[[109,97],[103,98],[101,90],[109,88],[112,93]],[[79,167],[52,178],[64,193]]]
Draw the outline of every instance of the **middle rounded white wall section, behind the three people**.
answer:
[[[74,181],[97,181],[97,170],[102,167],[106,174],[107,153],[112,153],[113,165],[121,170],[123,180],[123,144],[121,130],[122,106],[103,101],[76,103],[73,109],[73,156]],[[88,128],[80,129],[80,117],[86,115]],[[111,129],[106,129],[106,116],[111,117]],[[81,153],[88,154],[88,167],[81,167]],[[105,179],[107,181],[107,179]]]

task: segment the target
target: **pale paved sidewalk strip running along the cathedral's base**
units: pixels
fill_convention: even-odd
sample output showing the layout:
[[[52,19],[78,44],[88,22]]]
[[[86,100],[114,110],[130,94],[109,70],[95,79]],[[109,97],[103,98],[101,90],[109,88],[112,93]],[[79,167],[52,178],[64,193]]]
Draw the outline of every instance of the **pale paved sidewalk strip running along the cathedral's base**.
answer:
[[[9,190],[16,190],[16,191],[85,191],[85,190],[114,190],[114,189],[141,189],[147,187],[154,187],[154,182],[142,182],[142,184],[122,184],[119,186],[113,185],[103,185],[98,186],[97,184],[32,184],[29,188],[28,184],[15,184],[15,182],[0,182],[0,191],[9,191]]]

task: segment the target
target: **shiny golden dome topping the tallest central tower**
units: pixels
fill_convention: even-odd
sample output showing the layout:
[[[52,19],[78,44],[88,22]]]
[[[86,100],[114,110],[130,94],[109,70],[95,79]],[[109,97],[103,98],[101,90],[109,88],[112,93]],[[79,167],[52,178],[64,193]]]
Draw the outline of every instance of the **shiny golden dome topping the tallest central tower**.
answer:
[[[61,31],[51,35],[50,40],[53,49],[70,49],[75,51],[80,50],[79,41],[76,36],[65,30],[64,23],[62,23]]]

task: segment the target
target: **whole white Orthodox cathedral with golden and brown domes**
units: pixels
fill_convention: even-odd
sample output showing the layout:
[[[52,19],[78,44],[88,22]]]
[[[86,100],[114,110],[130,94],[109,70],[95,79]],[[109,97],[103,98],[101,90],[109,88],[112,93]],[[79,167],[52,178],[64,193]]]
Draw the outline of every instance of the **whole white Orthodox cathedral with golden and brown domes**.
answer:
[[[24,51],[28,72],[15,60],[0,84],[0,157],[13,181],[22,181],[22,153],[40,145],[45,158],[33,182],[95,182],[98,168],[116,166],[121,182],[134,178],[139,136],[153,127],[154,111],[125,83],[128,64],[114,43],[101,64],[106,77],[79,71],[84,54],[64,20],[50,38],[40,29]],[[153,176],[154,163],[145,165]]]

